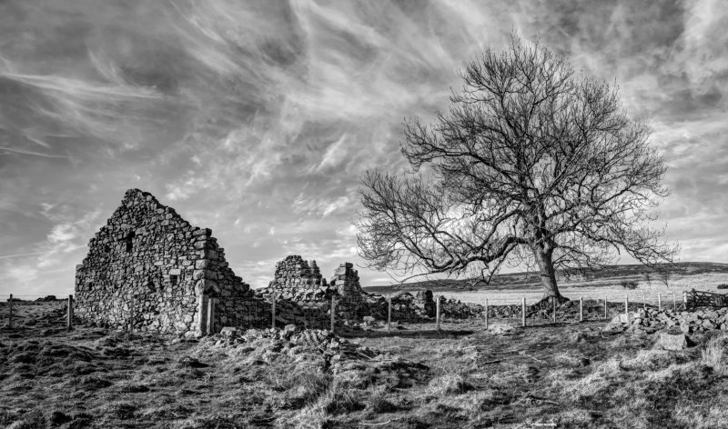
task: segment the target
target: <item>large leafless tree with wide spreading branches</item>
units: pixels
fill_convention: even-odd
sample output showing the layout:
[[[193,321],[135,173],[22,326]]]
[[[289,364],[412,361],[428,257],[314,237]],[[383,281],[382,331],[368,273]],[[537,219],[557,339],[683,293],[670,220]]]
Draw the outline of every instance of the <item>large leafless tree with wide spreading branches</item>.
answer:
[[[669,195],[648,125],[616,88],[561,55],[511,36],[461,72],[464,86],[431,125],[404,124],[404,175],[368,172],[359,188],[359,254],[379,270],[484,279],[503,264],[556,270],[611,264],[626,252],[672,262],[677,246],[649,226]],[[487,280],[486,280],[487,281]]]

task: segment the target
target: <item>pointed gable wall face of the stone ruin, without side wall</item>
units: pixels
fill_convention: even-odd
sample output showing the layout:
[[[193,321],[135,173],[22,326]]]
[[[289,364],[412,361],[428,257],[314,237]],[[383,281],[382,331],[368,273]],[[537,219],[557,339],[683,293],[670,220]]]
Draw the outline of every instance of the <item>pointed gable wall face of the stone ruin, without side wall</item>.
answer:
[[[127,191],[76,267],[76,314],[135,330],[197,330],[209,236],[153,195]]]

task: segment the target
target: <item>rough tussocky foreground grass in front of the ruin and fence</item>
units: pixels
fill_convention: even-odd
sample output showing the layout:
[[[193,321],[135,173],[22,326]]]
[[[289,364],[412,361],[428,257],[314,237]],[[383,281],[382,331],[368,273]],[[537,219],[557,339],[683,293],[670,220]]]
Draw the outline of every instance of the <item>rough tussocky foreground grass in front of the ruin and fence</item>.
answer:
[[[681,352],[603,321],[187,342],[66,332],[57,303],[16,311],[0,330],[2,427],[728,427],[722,334]]]

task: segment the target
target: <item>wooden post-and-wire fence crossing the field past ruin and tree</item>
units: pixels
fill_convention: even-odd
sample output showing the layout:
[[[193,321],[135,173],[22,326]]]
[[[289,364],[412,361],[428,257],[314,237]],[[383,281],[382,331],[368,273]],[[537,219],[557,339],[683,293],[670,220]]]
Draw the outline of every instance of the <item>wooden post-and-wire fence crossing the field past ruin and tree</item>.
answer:
[[[647,309],[682,311],[696,299],[706,299],[703,292],[642,292],[625,291],[622,294],[607,292],[601,297],[591,294],[566,294],[568,300],[544,300],[538,293],[511,294],[470,294],[467,301],[452,299],[452,294],[434,295],[435,308],[420,309],[413,316],[411,309],[402,312],[391,297],[387,299],[387,307],[374,315],[346,314],[339,308],[339,300],[334,297],[330,302],[317,308],[297,308],[298,313],[292,316],[291,304],[272,300],[267,307],[256,307],[255,314],[250,309],[238,311],[239,314],[225,316],[210,314],[209,320],[216,321],[217,326],[206,329],[206,333],[218,332],[224,326],[236,327],[282,327],[285,324],[304,324],[310,328],[329,329],[338,333],[356,334],[355,331],[377,331],[388,334],[440,332],[447,329],[458,329],[458,325],[478,320],[489,328],[491,324],[508,324],[511,326],[539,326],[546,324],[567,324],[590,321],[610,320],[615,315],[630,314]],[[722,294],[713,294],[721,299],[713,300],[723,304]],[[6,295],[7,296],[7,295]],[[701,303],[703,303],[703,301]],[[275,303],[275,304],[274,304]],[[50,305],[41,319],[38,312],[32,309],[40,304]],[[703,303],[704,304],[704,303]],[[73,329],[79,321],[74,314],[75,301],[73,295],[55,297],[44,295],[10,294],[0,300],[0,326],[16,328],[19,326],[54,326]],[[210,307],[212,308],[212,307]],[[261,309],[264,308],[264,309]],[[212,310],[209,310],[212,311]],[[248,314],[249,313],[249,314]],[[428,315],[422,315],[427,313]],[[453,328],[452,326],[455,326]]]

